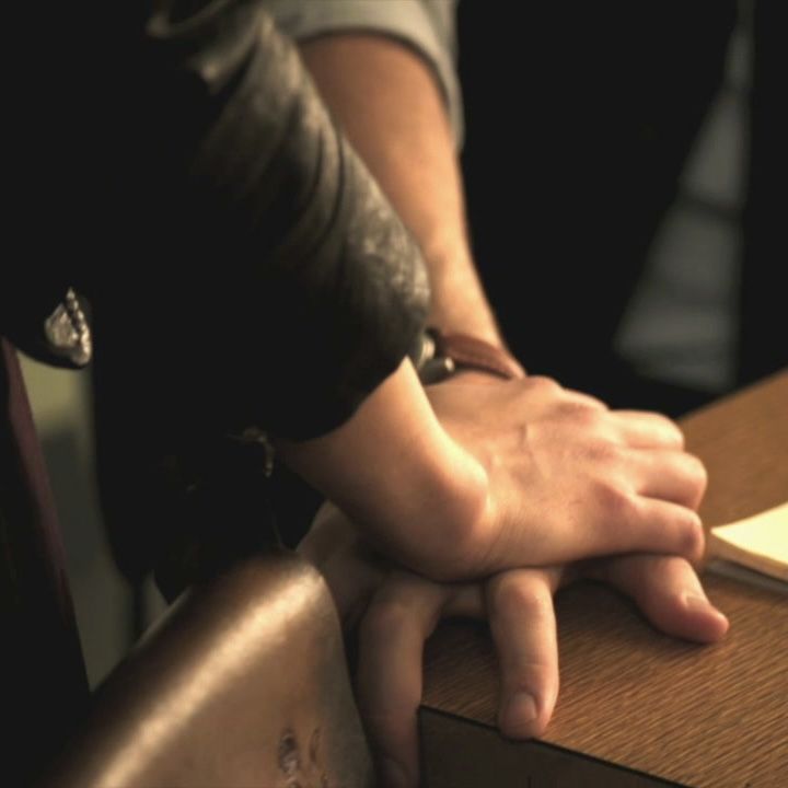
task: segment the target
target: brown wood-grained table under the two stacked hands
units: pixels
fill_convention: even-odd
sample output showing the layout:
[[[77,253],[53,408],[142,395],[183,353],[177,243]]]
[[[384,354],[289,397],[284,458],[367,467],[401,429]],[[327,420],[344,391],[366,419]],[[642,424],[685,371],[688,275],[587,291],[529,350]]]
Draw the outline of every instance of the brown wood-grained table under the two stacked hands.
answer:
[[[706,462],[707,526],[788,500],[788,370],[682,421]],[[485,627],[428,644],[420,715],[429,788],[788,787],[788,594],[705,575],[729,616],[720,644],[658,633],[614,592],[557,600],[561,688],[540,741],[495,728],[498,677]]]

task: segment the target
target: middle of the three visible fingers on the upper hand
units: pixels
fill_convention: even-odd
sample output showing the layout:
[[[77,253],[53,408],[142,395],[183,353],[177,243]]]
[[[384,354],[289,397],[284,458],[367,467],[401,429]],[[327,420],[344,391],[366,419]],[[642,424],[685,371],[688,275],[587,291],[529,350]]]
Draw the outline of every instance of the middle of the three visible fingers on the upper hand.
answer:
[[[694,454],[672,450],[635,450],[630,462],[640,495],[681,503],[690,509],[700,506],[708,476],[706,467]]]

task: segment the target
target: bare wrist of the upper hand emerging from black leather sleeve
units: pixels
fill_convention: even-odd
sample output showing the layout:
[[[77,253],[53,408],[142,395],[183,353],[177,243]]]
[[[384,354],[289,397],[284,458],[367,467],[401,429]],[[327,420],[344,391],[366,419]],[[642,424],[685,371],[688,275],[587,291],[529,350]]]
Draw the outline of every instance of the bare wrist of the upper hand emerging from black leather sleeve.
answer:
[[[278,448],[391,557],[439,579],[478,565],[486,474],[441,427],[409,360],[341,427]]]

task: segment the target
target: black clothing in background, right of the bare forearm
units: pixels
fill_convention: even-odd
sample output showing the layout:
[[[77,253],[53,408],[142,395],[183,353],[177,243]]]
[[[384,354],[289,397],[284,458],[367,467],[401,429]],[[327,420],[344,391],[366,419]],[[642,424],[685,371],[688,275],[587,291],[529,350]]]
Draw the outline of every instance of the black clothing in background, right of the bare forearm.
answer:
[[[615,337],[722,82],[737,3],[538,3],[522,25],[459,11],[468,224],[512,351],[614,407],[703,404],[642,376]]]

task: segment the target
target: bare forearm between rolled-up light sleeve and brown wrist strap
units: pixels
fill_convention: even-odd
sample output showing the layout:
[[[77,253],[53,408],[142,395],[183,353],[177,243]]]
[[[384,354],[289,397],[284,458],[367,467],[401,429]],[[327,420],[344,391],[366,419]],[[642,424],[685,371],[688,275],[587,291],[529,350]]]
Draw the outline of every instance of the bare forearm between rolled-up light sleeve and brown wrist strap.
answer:
[[[430,322],[501,344],[475,270],[457,157],[427,63],[379,35],[326,35],[301,45],[324,101],[419,243]]]

